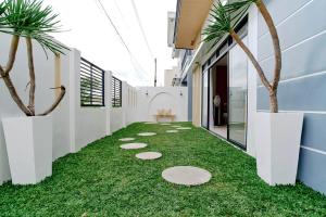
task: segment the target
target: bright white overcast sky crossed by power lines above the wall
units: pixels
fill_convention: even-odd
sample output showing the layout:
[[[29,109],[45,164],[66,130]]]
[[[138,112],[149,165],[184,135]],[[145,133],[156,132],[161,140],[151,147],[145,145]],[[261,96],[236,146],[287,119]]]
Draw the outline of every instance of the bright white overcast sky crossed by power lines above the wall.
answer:
[[[153,86],[154,58],[158,59],[158,86],[164,84],[164,69],[176,65],[167,48],[167,12],[176,0],[134,0],[148,39],[141,34],[131,0],[101,0],[131,58],[114,31],[98,0],[45,0],[59,13],[66,31],[53,35],[76,48],[82,56],[133,86]],[[152,54],[151,54],[152,52]]]

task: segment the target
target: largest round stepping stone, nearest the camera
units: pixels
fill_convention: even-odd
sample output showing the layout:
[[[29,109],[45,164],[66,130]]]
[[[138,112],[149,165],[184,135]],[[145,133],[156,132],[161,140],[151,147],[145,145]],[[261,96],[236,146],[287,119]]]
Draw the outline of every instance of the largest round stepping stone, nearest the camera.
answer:
[[[193,166],[176,166],[162,173],[163,179],[171,183],[183,186],[200,186],[212,178],[210,171]]]

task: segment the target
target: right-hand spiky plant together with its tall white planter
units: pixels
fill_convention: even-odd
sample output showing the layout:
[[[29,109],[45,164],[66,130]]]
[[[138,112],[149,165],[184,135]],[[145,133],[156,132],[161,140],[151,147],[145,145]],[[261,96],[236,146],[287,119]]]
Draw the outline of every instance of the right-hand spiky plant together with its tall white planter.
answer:
[[[259,61],[235,30],[236,25],[248,12],[251,4],[255,4],[258,8],[272,37],[275,60],[272,81],[267,79]],[[271,113],[260,112],[256,114],[255,146],[258,174],[271,186],[294,184],[303,114],[278,113],[277,90],[281,72],[281,50],[272,15],[263,0],[236,0],[225,4],[217,1],[211,11],[211,16],[213,20],[203,31],[203,35],[205,35],[204,40],[220,40],[224,35],[228,34],[247,54],[269,93]]]

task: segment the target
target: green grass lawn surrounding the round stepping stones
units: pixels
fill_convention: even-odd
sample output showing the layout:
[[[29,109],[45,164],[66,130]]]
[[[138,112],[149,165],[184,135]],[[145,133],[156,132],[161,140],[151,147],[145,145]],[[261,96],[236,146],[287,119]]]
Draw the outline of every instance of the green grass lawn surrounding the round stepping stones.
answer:
[[[181,126],[191,126],[188,123]],[[255,161],[200,128],[166,133],[171,126],[134,124],[53,164],[53,176],[37,186],[0,187],[1,216],[326,216],[326,197],[298,183],[265,184]],[[141,131],[158,132],[137,137]],[[120,138],[147,142],[121,150]],[[143,162],[142,151],[163,157]],[[163,169],[192,165],[212,173],[200,187],[161,178]]]

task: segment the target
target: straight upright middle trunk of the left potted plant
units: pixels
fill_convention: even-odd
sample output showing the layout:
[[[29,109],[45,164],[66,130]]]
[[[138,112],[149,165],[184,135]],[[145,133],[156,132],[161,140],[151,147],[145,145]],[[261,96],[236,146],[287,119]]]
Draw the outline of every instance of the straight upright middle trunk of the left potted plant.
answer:
[[[33,43],[32,39],[28,37],[26,38],[27,44],[27,58],[28,58],[28,69],[29,69],[29,103],[28,108],[30,110],[32,114],[35,115],[35,68],[34,68],[34,59],[33,59]]]

